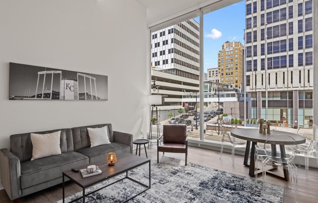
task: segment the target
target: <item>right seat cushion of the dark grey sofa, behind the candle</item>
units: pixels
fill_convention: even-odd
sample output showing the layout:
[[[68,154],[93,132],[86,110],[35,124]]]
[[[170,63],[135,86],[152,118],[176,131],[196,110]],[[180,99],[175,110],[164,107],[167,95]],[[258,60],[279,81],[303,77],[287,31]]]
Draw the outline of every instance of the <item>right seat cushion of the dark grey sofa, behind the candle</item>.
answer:
[[[130,147],[119,142],[112,142],[111,144],[82,148],[78,152],[87,156],[89,162],[92,163],[106,161],[108,152],[115,152],[116,154],[130,153]]]

